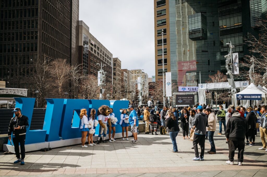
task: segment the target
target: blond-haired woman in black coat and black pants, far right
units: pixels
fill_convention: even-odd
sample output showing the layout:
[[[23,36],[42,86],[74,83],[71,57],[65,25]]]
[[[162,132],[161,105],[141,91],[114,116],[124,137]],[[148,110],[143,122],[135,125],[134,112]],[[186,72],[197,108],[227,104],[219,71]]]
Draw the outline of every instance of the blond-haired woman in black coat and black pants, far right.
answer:
[[[248,131],[248,135],[249,135],[249,146],[253,146],[255,145],[255,128],[256,128],[256,123],[255,120],[257,120],[257,117],[255,115],[255,113],[253,112],[252,108],[248,108],[247,109],[248,114],[246,116],[246,120],[248,122],[248,126],[249,126],[249,131]]]

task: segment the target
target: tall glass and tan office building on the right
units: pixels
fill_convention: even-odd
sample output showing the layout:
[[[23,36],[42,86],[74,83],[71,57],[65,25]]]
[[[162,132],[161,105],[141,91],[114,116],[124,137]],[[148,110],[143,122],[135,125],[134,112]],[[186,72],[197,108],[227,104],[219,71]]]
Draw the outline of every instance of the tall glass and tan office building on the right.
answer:
[[[226,73],[226,43],[235,46],[239,61],[249,54],[244,37],[258,34],[255,26],[266,16],[266,1],[154,0],[154,13],[156,81],[162,80],[164,55],[164,71],[172,73],[172,83],[197,86],[217,71]]]

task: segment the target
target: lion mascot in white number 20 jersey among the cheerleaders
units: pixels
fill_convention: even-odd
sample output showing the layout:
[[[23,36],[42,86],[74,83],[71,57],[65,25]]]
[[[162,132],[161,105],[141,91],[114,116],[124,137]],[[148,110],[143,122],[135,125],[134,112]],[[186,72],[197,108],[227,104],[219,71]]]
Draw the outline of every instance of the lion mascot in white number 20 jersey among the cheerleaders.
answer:
[[[97,144],[100,144],[100,138],[101,135],[103,134],[103,143],[107,142],[105,141],[106,139],[106,135],[107,135],[107,131],[108,131],[108,127],[107,127],[107,123],[108,125],[111,127],[111,121],[110,121],[110,117],[109,117],[109,107],[106,105],[102,105],[98,108],[97,111],[97,120],[99,122],[99,125],[101,127],[99,127],[99,134],[98,134],[98,138],[97,138]]]

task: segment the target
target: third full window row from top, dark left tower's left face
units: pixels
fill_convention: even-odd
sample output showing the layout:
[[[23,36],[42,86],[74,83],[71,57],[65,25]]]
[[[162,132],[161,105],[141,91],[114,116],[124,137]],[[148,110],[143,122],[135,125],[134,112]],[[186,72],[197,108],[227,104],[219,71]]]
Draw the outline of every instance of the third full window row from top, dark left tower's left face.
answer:
[[[2,41],[21,41],[21,40],[37,40],[37,31],[27,31],[27,32],[10,32],[10,33],[0,33],[0,42]]]

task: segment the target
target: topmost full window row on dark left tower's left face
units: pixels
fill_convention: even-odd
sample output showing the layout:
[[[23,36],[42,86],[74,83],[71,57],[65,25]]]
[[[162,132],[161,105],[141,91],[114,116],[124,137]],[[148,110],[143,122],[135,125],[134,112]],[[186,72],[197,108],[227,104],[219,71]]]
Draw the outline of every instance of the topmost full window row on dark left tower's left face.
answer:
[[[38,17],[38,8],[1,10],[0,19]]]

